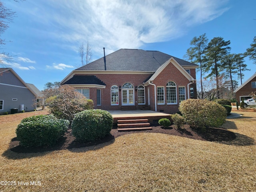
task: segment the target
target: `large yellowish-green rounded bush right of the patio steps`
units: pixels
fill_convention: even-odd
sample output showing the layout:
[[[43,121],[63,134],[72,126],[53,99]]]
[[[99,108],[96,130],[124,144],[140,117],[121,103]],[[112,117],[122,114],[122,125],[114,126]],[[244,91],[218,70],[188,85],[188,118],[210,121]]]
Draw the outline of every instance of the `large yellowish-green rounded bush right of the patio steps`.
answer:
[[[218,127],[225,122],[227,116],[224,107],[208,100],[184,100],[179,109],[191,128]]]

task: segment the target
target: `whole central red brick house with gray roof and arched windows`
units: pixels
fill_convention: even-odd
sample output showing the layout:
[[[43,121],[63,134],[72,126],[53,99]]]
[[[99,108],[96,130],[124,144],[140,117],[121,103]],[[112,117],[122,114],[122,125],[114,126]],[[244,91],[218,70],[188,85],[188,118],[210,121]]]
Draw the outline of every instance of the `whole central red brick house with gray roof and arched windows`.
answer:
[[[182,100],[196,98],[196,67],[159,51],[120,49],[73,70],[60,84],[92,99],[94,108],[175,113]]]

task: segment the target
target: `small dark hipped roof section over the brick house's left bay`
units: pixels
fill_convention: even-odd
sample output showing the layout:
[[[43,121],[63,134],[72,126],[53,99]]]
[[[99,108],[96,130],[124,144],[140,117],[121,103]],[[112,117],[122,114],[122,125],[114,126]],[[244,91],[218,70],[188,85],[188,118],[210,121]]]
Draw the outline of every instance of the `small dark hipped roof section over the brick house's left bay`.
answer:
[[[63,84],[95,84],[106,86],[106,84],[95,75],[74,75]]]

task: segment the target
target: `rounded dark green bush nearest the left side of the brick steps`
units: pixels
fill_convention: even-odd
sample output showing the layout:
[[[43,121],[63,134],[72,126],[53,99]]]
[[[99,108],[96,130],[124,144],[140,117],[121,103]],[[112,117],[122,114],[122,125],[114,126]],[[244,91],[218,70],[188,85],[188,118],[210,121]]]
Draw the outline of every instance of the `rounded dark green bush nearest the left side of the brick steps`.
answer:
[[[105,110],[84,110],[75,114],[72,134],[80,142],[90,142],[104,138],[112,129],[112,115]]]

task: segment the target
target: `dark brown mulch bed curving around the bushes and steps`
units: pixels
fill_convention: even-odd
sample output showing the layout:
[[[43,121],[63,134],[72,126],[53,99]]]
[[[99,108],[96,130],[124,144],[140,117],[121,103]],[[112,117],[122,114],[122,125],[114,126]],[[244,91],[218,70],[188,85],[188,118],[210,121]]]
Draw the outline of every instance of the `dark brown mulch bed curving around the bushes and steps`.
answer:
[[[17,138],[13,138],[10,142],[9,149],[17,153],[35,153],[35,152],[45,152],[52,150],[64,150],[71,148],[81,148],[86,146],[94,146],[108,141],[113,141],[114,138],[124,134],[138,133],[138,132],[149,132],[149,133],[162,133],[170,134],[175,136],[182,136],[186,138],[196,139],[196,140],[207,140],[207,141],[230,141],[236,138],[233,132],[230,132],[223,128],[209,128],[206,131],[198,131],[190,129],[188,125],[184,126],[182,130],[177,130],[174,126],[170,126],[168,129],[164,129],[159,124],[151,124],[152,130],[145,131],[129,131],[129,132],[118,132],[117,126],[113,126],[110,135],[106,136],[101,140],[90,143],[80,143],[75,140],[72,136],[72,130],[69,129],[68,132],[52,147],[22,147]]]

